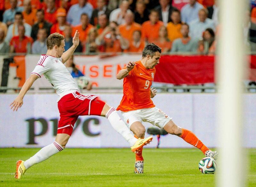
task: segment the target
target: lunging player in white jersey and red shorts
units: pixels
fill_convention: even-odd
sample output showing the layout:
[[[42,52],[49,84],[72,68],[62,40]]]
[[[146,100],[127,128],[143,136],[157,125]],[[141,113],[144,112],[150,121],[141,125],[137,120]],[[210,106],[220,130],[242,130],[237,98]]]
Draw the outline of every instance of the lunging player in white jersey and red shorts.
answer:
[[[16,162],[15,178],[17,179],[24,175],[31,166],[48,159],[65,148],[78,116],[97,115],[107,117],[112,127],[128,141],[133,152],[140,151],[143,146],[152,140],[152,137],[136,139],[118,116],[114,107],[109,107],[107,103],[101,101],[95,95],[82,95],[79,93],[74,79],[64,65],[74,53],[78,44],[79,32],[76,30],[73,37],[73,46],[64,53],[64,36],[59,33],[51,34],[46,40],[46,55],[41,55],[35,69],[22,86],[19,95],[10,105],[13,111],[17,111],[22,106],[23,97],[29,88],[36,79],[41,78],[42,74],[59,95],[60,121],[56,139],[52,144],[43,147],[28,160]]]

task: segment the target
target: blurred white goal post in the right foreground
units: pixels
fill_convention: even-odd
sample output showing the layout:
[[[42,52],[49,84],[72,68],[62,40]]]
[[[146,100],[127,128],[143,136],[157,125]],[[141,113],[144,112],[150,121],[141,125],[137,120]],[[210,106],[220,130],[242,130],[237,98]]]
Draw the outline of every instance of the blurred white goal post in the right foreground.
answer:
[[[241,135],[243,75],[247,64],[243,24],[248,3],[243,0],[218,0],[220,38],[216,70],[220,96],[220,150],[216,186],[219,187],[245,185]]]

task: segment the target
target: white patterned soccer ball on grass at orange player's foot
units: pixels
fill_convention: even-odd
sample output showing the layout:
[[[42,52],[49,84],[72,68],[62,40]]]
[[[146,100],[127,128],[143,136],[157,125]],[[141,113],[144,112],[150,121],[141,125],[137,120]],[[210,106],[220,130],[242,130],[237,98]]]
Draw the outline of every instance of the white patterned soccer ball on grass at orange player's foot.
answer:
[[[203,174],[214,174],[217,170],[217,163],[213,158],[205,157],[199,162],[198,167]]]

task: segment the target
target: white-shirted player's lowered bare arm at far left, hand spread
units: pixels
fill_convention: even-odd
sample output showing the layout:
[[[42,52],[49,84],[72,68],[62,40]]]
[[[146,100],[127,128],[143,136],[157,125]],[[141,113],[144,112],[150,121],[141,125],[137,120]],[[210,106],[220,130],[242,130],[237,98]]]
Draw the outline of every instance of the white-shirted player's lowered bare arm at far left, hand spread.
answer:
[[[16,97],[16,99],[10,104],[11,109],[18,110],[23,105],[23,97],[29,90],[29,88],[33,85],[33,83],[38,79],[38,76],[35,74],[30,75],[30,77],[26,80],[24,85],[22,86],[19,95]]]

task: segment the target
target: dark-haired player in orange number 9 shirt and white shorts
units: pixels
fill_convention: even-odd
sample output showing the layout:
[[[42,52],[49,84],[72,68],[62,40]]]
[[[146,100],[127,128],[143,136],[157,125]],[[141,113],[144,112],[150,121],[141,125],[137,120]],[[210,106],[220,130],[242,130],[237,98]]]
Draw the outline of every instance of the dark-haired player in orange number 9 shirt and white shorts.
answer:
[[[151,100],[156,95],[156,89],[150,88],[150,86],[154,80],[155,66],[159,64],[160,56],[161,48],[149,43],[143,49],[141,60],[130,61],[124,69],[119,71],[116,78],[124,79],[124,96],[117,110],[122,111],[124,122],[136,138],[144,138],[146,132],[141,122],[149,122],[184,139],[200,149],[205,156],[216,159],[218,154],[216,151],[213,152],[206,147],[193,132],[177,126],[172,118],[156,108]],[[134,173],[143,173],[143,166],[144,160],[141,149],[140,152],[136,153]]]

